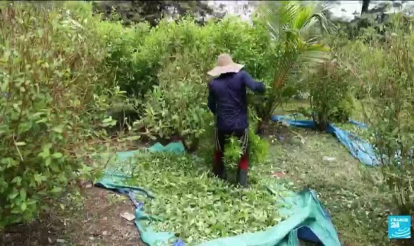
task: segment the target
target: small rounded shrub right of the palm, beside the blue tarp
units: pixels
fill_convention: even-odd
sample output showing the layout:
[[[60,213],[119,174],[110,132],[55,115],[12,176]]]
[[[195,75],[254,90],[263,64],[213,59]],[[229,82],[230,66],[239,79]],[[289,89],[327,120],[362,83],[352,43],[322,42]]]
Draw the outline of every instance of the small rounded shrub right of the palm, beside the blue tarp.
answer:
[[[353,97],[347,71],[336,61],[323,64],[308,82],[311,100],[311,117],[320,130],[328,123],[347,122],[353,110]]]

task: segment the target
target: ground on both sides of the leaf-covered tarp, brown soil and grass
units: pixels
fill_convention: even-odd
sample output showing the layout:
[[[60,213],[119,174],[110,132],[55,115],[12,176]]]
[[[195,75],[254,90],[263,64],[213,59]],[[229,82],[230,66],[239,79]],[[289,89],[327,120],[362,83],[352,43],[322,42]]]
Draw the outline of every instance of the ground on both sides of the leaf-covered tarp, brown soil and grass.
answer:
[[[280,113],[298,104],[303,103]],[[271,125],[269,165],[252,172],[272,175],[295,190],[316,190],[344,245],[391,245],[386,235],[389,199],[365,181],[367,172],[375,176],[378,170],[365,168],[331,135]],[[2,232],[0,245],[139,245],[135,226],[120,216],[134,211],[123,196],[72,185],[53,204],[33,223]]]

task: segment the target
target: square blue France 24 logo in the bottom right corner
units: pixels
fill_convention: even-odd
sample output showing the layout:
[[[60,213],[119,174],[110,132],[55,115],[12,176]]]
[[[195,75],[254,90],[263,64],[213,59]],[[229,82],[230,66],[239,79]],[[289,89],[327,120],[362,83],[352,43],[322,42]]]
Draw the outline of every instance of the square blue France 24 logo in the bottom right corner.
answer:
[[[410,215],[388,216],[388,238],[390,239],[411,238],[411,216]]]

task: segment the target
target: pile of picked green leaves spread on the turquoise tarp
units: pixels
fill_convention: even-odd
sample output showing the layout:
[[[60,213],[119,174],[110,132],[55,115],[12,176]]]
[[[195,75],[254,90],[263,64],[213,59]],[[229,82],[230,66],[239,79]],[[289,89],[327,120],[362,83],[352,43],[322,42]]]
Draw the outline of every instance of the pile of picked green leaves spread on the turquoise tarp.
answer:
[[[240,189],[211,177],[208,166],[187,154],[139,154],[124,163],[128,184],[155,194],[144,211],[163,221],[149,221],[156,231],[174,232],[186,244],[254,232],[282,220],[277,213],[284,191],[271,194],[263,182]],[[131,168],[132,167],[132,168]]]

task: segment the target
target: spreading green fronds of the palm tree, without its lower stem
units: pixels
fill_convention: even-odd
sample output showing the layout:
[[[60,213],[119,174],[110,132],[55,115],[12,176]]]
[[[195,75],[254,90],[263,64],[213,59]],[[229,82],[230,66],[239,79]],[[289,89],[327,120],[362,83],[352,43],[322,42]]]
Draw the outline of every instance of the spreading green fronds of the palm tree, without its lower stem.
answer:
[[[329,31],[331,25],[320,6],[302,6],[297,1],[272,1],[266,2],[262,10],[262,17],[279,47],[274,90],[281,89],[291,75],[302,69],[314,69],[328,61],[329,49],[318,44],[318,37]]]

